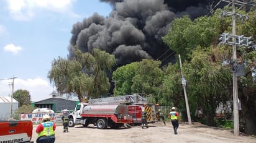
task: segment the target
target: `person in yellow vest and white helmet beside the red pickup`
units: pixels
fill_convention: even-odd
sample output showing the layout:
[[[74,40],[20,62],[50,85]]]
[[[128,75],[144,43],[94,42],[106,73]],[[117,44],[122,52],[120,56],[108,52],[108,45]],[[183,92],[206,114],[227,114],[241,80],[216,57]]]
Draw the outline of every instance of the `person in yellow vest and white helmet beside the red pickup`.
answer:
[[[37,143],[53,143],[55,142],[56,124],[50,121],[49,115],[43,115],[43,122],[37,126]]]

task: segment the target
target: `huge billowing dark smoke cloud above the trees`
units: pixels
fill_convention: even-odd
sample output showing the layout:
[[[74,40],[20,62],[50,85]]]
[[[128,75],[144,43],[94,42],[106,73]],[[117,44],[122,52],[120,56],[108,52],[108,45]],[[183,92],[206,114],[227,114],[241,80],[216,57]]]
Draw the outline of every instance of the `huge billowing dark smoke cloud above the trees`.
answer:
[[[162,64],[173,61],[174,55],[162,37],[176,17],[188,14],[191,19],[209,13],[212,0],[100,0],[112,6],[108,17],[97,13],[73,25],[70,58],[75,45],[83,52],[98,46],[114,54],[118,66],[159,59]]]

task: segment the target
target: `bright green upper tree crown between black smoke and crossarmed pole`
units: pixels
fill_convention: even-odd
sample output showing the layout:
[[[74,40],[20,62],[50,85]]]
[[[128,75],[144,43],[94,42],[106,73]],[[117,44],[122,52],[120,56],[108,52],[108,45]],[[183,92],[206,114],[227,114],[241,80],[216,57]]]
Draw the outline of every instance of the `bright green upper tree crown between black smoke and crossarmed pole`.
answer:
[[[216,16],[199,17],[192,21],[188,15],[185,15],[173,20],[169,32],[163,37],[163,42],[171,50],[181,54],[183,59],[188,59],[196,46],[207,48],[219,39],[219,21]]]

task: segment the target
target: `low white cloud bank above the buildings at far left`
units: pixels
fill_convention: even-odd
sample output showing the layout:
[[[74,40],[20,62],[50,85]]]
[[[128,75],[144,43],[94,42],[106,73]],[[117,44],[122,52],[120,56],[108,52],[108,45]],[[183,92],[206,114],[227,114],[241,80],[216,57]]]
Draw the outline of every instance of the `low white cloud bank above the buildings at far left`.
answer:
[[[12,80],[0,80],[0,97],[11,95]],[[27,90],[30,93],[31,100],[37,102],[45,98],[50,98],[53,89],[45,79],[14,79],[14,92],[16,90]]]

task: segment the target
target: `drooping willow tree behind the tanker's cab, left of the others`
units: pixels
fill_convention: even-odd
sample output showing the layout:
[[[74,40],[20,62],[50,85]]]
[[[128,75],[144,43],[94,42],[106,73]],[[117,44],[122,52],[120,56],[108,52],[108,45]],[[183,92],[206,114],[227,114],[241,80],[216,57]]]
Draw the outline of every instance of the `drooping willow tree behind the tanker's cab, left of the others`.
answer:
[[[52,69],[48,72],[48,79],[57,87],[60,93],[75,92],[80,102],[85,95],[97,98],[110,87],[106,70],[116,64],[114,55],[94,48],[91,53],[82,53],[75,48],[73,59],[54,59]]]

